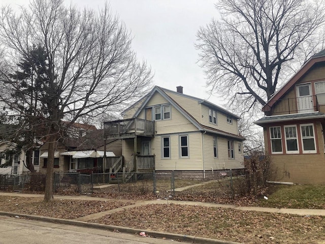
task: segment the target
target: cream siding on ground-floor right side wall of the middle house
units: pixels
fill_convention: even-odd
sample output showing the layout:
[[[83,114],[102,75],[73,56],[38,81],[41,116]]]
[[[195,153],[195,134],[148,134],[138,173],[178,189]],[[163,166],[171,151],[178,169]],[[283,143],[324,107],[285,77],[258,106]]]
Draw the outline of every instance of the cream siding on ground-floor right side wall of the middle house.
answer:
[[[243,168],[244,156],[239,154],[239,141],[234,140],[235,159],[228,158],[228,140],[226,138],[217,137],[218,158],[214,158],[213,153],[213,135],[204,134],[204,166],[205,170],[218,169],[240,169]]]

